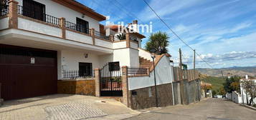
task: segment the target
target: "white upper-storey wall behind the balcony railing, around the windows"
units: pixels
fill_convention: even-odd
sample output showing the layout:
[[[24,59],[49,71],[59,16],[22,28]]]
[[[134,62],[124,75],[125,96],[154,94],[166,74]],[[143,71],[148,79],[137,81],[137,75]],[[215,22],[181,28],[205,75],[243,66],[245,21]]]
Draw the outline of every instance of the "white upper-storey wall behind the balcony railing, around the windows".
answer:
[[[23,0],[16,0],[19,2],[19,5],[23,6]],[[66,21],[70,21],[76,24],[76,18],[84,19],[85,21],[89,22],[89,27],[94,28],[96,31],[100,31],[100,24],[99,21],[96,21],[89,16],[85,16],[82,18],[82,14],[78,11],[74,11],[72,9],[67,8],[66,6],[62,6],[61,4],[57,4],[54,1],[50,0],[34,0],[38,1],[41,4],[45,5],[45,12],[50,16],[54,16],[57,18],[65,17]]]

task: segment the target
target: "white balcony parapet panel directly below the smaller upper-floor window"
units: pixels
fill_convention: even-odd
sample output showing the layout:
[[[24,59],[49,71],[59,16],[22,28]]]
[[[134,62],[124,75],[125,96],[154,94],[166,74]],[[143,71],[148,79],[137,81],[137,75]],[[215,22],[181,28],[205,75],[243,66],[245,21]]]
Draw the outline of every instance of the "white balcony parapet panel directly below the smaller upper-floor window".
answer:
[[[77,34],[73,31],[66,31],[66,38],[71,39],[73,41],[79,41],[85,44],[93,44],[93,39],[91,36],[86,36],[83,34]]]

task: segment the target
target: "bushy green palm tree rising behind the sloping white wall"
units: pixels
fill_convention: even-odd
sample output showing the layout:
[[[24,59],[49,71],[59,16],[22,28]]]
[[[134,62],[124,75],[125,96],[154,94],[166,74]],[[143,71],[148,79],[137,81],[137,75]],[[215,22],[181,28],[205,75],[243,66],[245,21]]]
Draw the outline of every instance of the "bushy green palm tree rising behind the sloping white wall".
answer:
[[[158,31],[155,34],[151,34],[146,43],[147,51],[154,51],[155,54],[167,54],[167,46],[169,46],[169,35],[166,32]]]

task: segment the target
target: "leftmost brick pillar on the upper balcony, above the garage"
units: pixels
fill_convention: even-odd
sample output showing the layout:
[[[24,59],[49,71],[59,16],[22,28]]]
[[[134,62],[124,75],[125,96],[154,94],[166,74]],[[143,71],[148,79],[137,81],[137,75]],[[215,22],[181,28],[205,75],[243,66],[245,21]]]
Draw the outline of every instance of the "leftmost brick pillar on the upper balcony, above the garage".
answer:
[[[18,29],[18,2],[10,0],[9,4],[9,28]]]

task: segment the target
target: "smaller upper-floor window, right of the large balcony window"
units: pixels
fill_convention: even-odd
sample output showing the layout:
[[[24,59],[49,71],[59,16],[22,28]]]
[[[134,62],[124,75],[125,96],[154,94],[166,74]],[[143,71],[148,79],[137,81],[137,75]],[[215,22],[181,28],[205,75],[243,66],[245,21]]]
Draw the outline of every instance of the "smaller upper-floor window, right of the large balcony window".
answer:
[[[77,31],[89,34],[89,23],[83,19],[77,18]]]

